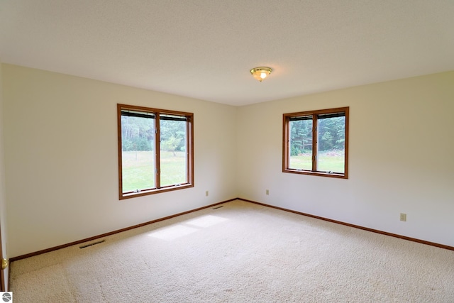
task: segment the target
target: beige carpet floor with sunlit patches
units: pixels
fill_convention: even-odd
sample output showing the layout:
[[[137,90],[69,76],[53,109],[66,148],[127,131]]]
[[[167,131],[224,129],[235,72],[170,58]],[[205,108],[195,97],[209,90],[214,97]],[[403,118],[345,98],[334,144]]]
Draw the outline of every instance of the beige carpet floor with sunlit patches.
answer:
[[[454,251],[221,205],[13,262],[13,301],[454,302]]]

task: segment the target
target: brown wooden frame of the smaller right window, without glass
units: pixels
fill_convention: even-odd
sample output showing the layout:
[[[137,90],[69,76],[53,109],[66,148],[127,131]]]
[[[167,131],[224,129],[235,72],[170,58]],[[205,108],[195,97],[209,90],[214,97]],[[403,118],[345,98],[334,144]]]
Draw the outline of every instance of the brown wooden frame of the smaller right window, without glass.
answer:
[[[349,120],[349,107],[338,107],[335,109],[321,109],[316,111],[300,111],[297,113],[283,114],[283,135],[282,135],[282,172],[290,172],[293,174],[300,175],[315,175],[321,177],[335,177],[348,179],[348,120]],[[317,116],[320,114],[345,114],[345,154],[344,154],[344,173],[338,172],[321,172],[316,169],[316,162],[318,153],[318,137],[319,133],[316,129],[317,127]],[[297,170],[289,168],[289,158],[290,158],[290,138],[289,138],[289,121],[292,117],[299,116],[312,116],[312,169],[311,170]]]

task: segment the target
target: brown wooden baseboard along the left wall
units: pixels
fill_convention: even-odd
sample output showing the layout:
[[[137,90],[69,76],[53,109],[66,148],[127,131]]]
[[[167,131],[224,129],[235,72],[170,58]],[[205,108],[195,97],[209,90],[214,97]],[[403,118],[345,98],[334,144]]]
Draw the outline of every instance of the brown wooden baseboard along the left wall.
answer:
[[[69,246],[74,246],[74,245],[77,245],[77,244],[80,244],[80,243],[85,243],[85,242],[89,242],[89,241],[94,241],[94,240],[97,240],[99,238],[104,238],[106,236],[111,236],[111,235],[114,235],[115,233],[121,233],[123,231],[129,231],[131,229],[134,229],[134,228],[138,228],[138,227],[142,227],[142,226],[145,226],[145,225],[148,225],[148,224],[153,224],[153,223],[156,223],[156,222],[159,222],[159,221],[164,221],[164,220],[167,220],[167,219],[172,219],[172,218],[175,218],[176,216],[182,216],[184,214],[190,214],[194,211],[199,211],[201,209],[208,209],[210,207],[213,207],[213,206],[216,206],[218,204],[223,204],[223,203],[227,203],[227,202],[231,202],[231,201],[234,201],[236,200],[237,198],[234,198],[234,199],[229,199],[229,200],[226,200],[226,201],[223,201],[223,202],[217,202],[215,204],[210,204],[208,206],[203,206],[203,207],[199,207],[197,209],[192,209],[190,211],[183,211],[182,213],[179,213],[179,214],[174,214],[172,216],[165,216],[164,218],[160,218],[160,219],[155,219],[155,220],[152,220],[152,221],[148,221],[148,222],[145,222],[145,223],[141,223],[141,224],[137,224],[137,225],[134,225],[134,226],[129,226],[129,227],[126,227],[126,228],[121,228],[121,229],[118,229],[116,231],[111,231],[109,233],[103,233],[101,235],[98,235],[98,236],[93,236],[93,237],[90,237],[90,238],[85,238],[85,239],[82,239],[82,240],[79,240],[79,241],[74,241],[74,242],[71,242],[71,243],[67,243],[67,244],[62,244],[60,246],[55,246],[55,247],[52,247],[52,248],[47,248],[47,249],[43,249],[43,250],[39,250],[39,251],[35,251],[34,253],[27,253],[26,255],[19,255],[17,257],[13,257],[13,258],[10,258],[10,262],[14,262],[14,261],[17,261],[17,260],[21,260],[21,259],[25,259],[25,258],[30,258],[30,257],[33,257],[34,255],[41,255],[43,253],[50,253],[51,251],[53,250],[59,250],[61,248],[67,248]],[[10,267],[11,268],[11,265]]]

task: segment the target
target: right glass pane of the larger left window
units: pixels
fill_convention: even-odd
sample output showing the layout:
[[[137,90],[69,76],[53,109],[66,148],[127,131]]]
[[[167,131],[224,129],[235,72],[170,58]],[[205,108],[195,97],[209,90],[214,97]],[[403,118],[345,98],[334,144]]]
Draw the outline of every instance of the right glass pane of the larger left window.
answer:
[[[161,187],[187,183],[187,121],[182,116],[161,115]]]

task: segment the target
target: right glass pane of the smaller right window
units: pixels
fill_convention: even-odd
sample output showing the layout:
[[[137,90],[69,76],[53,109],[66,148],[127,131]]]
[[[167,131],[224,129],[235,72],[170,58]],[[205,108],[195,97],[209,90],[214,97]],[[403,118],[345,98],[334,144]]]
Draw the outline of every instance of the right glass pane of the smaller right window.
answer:
[[[345,116],[319,119],[317,170],[345,172]]]

